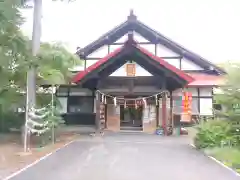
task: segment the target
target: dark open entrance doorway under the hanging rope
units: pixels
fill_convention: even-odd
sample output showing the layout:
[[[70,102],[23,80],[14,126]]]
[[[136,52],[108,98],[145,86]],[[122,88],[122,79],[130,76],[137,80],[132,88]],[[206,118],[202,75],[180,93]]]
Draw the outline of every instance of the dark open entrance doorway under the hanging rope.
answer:
[[[121,130],[142,130],[143,107],[120,106],[120,129]]]

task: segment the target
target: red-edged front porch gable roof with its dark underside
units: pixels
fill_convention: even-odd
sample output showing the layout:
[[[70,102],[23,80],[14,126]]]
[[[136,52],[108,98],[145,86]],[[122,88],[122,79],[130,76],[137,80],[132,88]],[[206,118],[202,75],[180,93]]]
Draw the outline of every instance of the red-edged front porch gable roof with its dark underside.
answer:
[[[85,71],[77,73],[72,82],[85,87],[90,83],[95,87],[99,79],[106,78],[129,60],[135,61],[154,77],[166,77],[169,86],[172,84],[170,89],[181,88],[194,81],[193,77],[138,46],[134,40],[128,40],[122,47],[89,66]]]

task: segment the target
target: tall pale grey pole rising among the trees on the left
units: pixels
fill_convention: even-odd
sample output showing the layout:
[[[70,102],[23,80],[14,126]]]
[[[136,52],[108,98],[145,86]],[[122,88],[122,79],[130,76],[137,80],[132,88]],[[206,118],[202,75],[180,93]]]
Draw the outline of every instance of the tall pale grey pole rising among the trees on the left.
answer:
[[[42,18],[42,0],[34,0],[33,12],[33,31],[32,31],[32,55],[36,56],[40,48],[41,39],[41,18]],[[24,129],[24,151],[27,152],[28,144],[28,113],[29,109],[36,105],[36,72],[35,67],[31,66],[27,72],[27,94],[25,108],[25,129]]]

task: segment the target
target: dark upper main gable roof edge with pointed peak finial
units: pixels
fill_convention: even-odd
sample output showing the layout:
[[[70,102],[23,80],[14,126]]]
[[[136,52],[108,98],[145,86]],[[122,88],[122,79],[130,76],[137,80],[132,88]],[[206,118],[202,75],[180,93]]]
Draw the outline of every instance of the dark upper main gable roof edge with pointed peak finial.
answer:
[[[102,35],[99,39],[87,45],[86,47],[79,49],[77,51],[77,54],[81,58],[84,58],[95,50],[99,49],[100,47],[117,41],[119,38],[131,31],[139,33],[141,36],[143,36],[145,39],[149,40],[152,43],[161,44],[166,48],[171,49],[173,52],[189,59],[190,61],[203,67],[204,69],[215,70],[217,74],[226,73],[223,69],[217,67],[203,57],[191,52],[185,47],[177,44],[176,42],[162,35],[161,33],[143,24],[141,21],[137,20],[137,17],[133,14],[133,11],[131,11],[127,21],[123,22],[111,31]]]

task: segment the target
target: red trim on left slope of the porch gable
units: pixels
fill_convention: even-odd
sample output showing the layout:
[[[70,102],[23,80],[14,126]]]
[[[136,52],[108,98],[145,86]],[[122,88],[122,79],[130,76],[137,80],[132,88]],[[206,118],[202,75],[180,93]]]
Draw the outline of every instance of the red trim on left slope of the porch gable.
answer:
[[[109,59],[111,59],[112,57],[116,56],[118,53],[120,53],[123,49],[123,46],[120,48],[117,48],[115,51],[109,53],[107,56],[105,56],[104,58],[98,60],[96,63],[92,64],[91,66],[89,66],[85,71],[80,71],[78,72],[72,79],[73,83],[77,83],[79,82],[84,76],[86,76],[88,73],[94,71],[95,69],[97,69],[99,66],[101,66],[102,64],[104,64],[105,62],[107,62]]]

